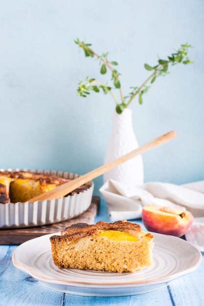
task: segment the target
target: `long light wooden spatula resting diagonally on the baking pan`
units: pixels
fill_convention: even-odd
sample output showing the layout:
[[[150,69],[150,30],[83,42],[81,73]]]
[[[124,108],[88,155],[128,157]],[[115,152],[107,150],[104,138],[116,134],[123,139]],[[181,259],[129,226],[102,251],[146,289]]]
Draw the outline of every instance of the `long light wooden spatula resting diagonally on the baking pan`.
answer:
[[[33,197],[32,199],[30,199],[30,202],[34,202],[34,201],[44,201],[44,200],[51,200],[53,198],[60,198],[60,197],[64,197],[66,196],[68,193],[70,193],[71,191],[73,191],[74,189],[78,188],[79,186],[91,181],[93,178],[98,177],[99,175],[104,174],[105,172],[113,169],[114,167],[124,163],[125,161],[136,157],[137,155],[140,155],[142,153],[145,153],[147,151],[150,151],[152,149],[154,149],[155,147],[160,146],[161,144],[171,140],[172,138],[174,138],[177,135],[176,131],[170,131],[168,133],[165,133],[161,136],[159,136],[158,138],[147,142],[146,144],[138,147],[136,150],[131,151],[130,153],[127,153],[113,161],[111,161],[108,164],[105,164],[99,168],[96,168],[94,170],[92,170],[91,172],[88,172],[85,175],[81,175],[71,181],[69,181],[68,183],[65,183],[63,185],[60,185],[48,192],[45,192],[37,197]]]

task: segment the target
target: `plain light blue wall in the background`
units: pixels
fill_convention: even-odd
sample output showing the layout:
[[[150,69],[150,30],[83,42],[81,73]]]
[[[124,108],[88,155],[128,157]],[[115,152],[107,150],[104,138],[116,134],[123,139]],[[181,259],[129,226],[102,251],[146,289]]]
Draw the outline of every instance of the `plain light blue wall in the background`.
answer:
[[[131,109],[139,144],[178,131],[143,155],[145,181],[204,179],[203,0],[0,0],[0,168],[85,174],[103,164],[115,106],[76,95],[79,80],[101,77],[76,38],[119,63],[125,94],[149,75],[144,63],[193,46],[194,64],[172,67]],[[97,195],[102,176],[94,182]]]

